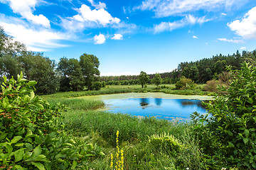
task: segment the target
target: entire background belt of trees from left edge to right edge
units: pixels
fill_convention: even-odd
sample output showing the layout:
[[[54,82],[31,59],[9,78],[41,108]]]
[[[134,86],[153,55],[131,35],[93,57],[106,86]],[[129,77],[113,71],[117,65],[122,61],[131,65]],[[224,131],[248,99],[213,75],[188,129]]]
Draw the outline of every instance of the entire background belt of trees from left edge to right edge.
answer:
[[[240,69],[243,62],[256,66],[256,50],[239,51],[233,55],[215,55],[196,62],[181,62],[172,72],[160,73],[161,84],[176,84],[181,77],[197,84],[227,76],[225,68]],[[28,80],[35,80],[37,94],[57,91],[98,90],[105,85],[141,84],[139,75],[100,77],[100,61],[95,55],[82,54],[80,59],[60,58],[57,63],[41,52],[26,50],[26,46],[6,35],[0,27],[0,81],[6,76],[16,78],[23,72]],[[222,76],[221,76],[222,75]],[[149,74],[146,84],[154,84],[156,74]]]

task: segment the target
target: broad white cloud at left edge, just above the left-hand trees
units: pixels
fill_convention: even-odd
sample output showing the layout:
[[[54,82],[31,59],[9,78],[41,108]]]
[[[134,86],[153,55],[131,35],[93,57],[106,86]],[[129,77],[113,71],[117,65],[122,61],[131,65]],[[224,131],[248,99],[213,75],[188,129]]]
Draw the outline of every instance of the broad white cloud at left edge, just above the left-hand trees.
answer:
[[[68,40],[70,37],[62,33],[55,33],[46,28],[34,28],[28,26],[17,18],[5,18],[0,15],[0,26],[3,26],[6,34],[14,37],[15,40],[23,42],[28,50],[48,51],[55,47],[66,47],[60,44],[59,40]]]

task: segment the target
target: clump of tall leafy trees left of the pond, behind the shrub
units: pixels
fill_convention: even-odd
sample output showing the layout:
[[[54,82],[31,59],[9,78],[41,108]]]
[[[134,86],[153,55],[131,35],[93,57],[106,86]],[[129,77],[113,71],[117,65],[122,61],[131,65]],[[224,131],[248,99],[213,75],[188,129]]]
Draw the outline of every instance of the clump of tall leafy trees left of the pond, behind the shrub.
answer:
[[[0,27],[0,83],[23,72],[25,79],[34,80],[37,94],[54,94],[56,91],[81,91],[100,89],[99,60],[94,55],[83,54],[80,60],[54,60],[43,53],[26,50],[26,46],[6,35]]]

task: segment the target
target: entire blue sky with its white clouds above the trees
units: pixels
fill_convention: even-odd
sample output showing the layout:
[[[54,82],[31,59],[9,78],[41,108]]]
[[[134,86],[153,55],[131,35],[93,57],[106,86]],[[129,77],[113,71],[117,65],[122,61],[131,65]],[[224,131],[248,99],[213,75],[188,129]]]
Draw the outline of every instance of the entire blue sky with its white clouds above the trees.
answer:
[[[170,72],[256,49],[255,0],[0,0],[0,26],[50,59],[100,60],[102,76]]]

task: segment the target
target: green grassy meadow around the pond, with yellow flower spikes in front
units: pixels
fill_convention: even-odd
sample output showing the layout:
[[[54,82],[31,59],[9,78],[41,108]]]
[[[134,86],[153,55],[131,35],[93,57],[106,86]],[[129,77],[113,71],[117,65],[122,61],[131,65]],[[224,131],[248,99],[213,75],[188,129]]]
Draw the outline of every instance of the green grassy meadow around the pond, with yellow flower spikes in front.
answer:
[[[196,91],[177,92],[172,89],[174,85],[163,89],[149,85],[143,90],[137,85],[106,86],[100,91],[65,92],[42,97],[50,105],[65,105],[63,123],[68,134],[96,144],[105,153],[105,156],[88,161],[89,169],[206,169],[190,123],[97,111],[105,106],[102,101],[74,98],[148,91],[198,94]]]

